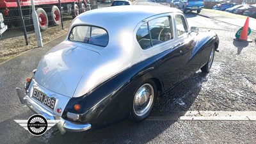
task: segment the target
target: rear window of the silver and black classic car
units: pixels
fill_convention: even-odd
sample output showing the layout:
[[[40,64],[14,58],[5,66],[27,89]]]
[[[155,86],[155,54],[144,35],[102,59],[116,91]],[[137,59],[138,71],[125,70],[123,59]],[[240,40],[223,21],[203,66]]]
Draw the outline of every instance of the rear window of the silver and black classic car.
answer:
[[[95,26],[75,26],[68,35],[68,40],[106,47],[109,37],[107,31],[102,28]]]

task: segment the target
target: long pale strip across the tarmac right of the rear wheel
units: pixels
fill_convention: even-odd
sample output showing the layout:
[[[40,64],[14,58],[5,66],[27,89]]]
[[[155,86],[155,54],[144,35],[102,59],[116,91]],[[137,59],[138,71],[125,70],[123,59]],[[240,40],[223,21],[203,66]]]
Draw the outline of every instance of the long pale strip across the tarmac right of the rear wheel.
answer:
[[[256,121],[256,111],[155,111],[147,120]]]

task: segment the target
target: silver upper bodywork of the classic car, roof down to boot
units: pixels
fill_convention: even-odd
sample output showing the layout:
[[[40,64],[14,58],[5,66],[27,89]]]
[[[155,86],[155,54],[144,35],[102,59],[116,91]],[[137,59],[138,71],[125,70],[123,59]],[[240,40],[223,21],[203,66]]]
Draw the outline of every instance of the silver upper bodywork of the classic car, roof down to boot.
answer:
[[[51,92],[66,97],[81,97],[115,74],[156,54],[156,49],[141,49],[136,31],[147,20],[172,12],[180,11],[156,6],[113,6],[79,15],[73,20],[70,31],[77,25],[106,29],[108,45],[100,47],[71,42],[67,36],[42,58],[35,81]],[[161,45],[163,47],[164,43]],[[170,45],[166,45],[168,48]]]

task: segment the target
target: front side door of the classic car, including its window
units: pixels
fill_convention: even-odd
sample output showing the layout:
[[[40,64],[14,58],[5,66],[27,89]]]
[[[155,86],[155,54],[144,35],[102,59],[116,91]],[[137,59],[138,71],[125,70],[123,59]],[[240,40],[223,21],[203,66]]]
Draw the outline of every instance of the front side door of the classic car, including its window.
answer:
[[[180,81],[190,76],[200,65],[200,54],[194,50],[194,39],[189,33],[188,23],[182,13],[176,13],[175,28],[180,52]]]

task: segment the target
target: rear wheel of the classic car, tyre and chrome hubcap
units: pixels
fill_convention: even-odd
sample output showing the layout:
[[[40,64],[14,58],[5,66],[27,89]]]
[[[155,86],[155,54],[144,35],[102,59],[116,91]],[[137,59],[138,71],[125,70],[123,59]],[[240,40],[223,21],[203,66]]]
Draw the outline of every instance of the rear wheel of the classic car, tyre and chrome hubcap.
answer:
[[[141,122],[147,118],[156,102],[156,84],[153,81],[145,81],[134,92],[130,108],[130,120]]]

